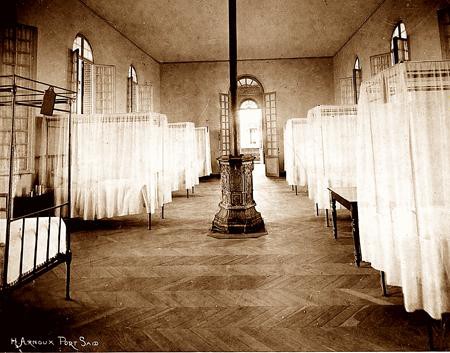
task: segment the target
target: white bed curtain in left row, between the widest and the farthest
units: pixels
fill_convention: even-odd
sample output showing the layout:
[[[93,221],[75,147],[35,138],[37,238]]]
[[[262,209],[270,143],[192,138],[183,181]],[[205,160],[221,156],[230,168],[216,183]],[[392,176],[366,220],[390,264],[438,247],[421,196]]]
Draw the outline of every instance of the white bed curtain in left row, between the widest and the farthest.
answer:
[[[194,123],[168,124],[167,151],[170,155],[168,173],[172,191],[190,189],[199,183]]]

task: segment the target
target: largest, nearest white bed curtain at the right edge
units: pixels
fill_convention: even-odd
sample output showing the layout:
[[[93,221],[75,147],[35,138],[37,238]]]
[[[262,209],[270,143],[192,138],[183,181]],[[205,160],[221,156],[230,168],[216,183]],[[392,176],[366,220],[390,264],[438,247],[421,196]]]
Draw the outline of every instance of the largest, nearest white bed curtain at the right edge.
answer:
[[[407,311],[450,311],[450,62],[407,62],[364,82],[358,208],[365,261]]]

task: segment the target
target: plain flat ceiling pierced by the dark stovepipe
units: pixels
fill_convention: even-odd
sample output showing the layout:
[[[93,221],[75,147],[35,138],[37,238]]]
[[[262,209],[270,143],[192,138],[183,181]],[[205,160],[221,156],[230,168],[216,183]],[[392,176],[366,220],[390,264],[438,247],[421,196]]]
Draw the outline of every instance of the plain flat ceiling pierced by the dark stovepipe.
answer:
[[[227,0],[81,0],[160,62],[228,59]],[[238,59],[333,56],[383,0],[237,0]]]

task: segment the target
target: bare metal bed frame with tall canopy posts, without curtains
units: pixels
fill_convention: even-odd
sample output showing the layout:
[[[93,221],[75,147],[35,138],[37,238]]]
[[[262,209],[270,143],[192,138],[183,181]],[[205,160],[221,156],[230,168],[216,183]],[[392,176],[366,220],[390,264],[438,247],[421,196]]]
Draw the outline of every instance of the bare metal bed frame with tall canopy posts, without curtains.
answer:
[[[16,107],[26,106],[31,108],[40,108],[43,102],[45,89],[52,87],[55,94],[55,111],[68,113],[68,181],[67,181],[67,202],[55,205],[50,208],[39,210],[37,212],[29,213],[24,216],[14,217],[12,214],[13,209],[13,179],[14,179],[14,153],[15,153],[15,119],[16,119]],[[6,235],[5,235],[5,248],[4,248],[4,261],[3,261],[3,278],[0,284],[0,293],[8,294],[14,288],[20,287],[40,275],[50,271],[61,263],[66,263],[66,299],[70,299],[70,265],[72,261],[72,252],[70,249],[70,232],[66,228],[66,248],[65,253],[61,252],[61,223],[64,208],[67,209],[67,214],[70,217],[71,214],[71,124],[72,124],[72,103],[76,99],[76,92],[50,85],[41,81],[36,81],[19,75],[6,75],[0,76],[0,107],[11,107],[11,129],[10,129],[10,155],[9,155],[9,182],[8,192],[0,194],[0,197],[5,198],[6,207],[3,209],[6,212]],[[64,117],[65,118],[65,117]],[[32,156],[34,157],[34,156]],[[56,214],[56,210],[59,210],[59,222],[58,222],[58,250],[57,254],[53,257],[49,255],[50,248],[50,229],[51,229],[51,217],[52,213]],[[36,218],[36,230],[35,230],[35,245],[34,245],[34,257],[33,268],[25,273],[23,272],[23,260],[24,260],[24,234],[25,234],[25,219]],[[39,219],[42,217],[48,217],[49,229],[47,230],[47,248],[45,261],[42,264],[37,264],[37,249],[39,240]],[[9,266],[9,248],[11,240],[11,222],[21,221],[21,241],[20,241],[20,265],[19,265],[19,277],[17,280],[8,283],[8,266]]]

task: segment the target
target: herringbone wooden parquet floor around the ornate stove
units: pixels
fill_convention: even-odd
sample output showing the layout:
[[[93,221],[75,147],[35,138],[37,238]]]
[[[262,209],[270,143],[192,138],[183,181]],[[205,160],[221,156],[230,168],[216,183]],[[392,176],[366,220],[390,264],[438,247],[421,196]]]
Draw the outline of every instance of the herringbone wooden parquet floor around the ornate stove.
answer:
[[[54,343],[23,351],[428,350],[426,315],[353,265],[346,211],[336,241],[284,180],[257,177],[255,189],[269,233],[258,239],[206,235],[218,180],[180,193],[151,231],[145,215],[76,224],[72,301],[64,266],[16,290],[1,306],[0,350],[21,337]]]

